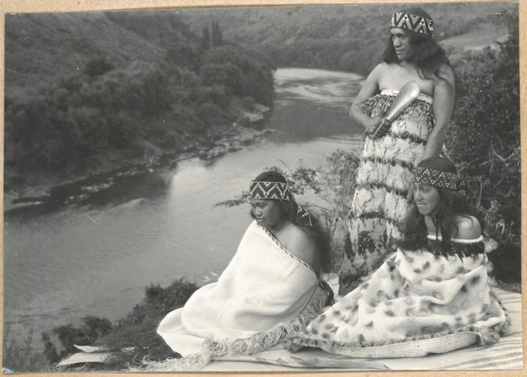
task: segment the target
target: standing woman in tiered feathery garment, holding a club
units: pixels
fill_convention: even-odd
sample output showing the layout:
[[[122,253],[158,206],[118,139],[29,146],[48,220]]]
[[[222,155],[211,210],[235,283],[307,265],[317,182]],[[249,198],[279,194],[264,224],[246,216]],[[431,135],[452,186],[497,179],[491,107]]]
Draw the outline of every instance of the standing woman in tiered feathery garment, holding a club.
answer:
[[[340,270],[344,293],[394,250],[411,201],[412,170],[422,159],[438,156],[443,146],[454,106],[454,71],[433,31],[424,10],[396,12],[384,62],[368,75],[351,106],[350,117],[370,136],[405,83],[415,81],[420,87],[420,95],[385,135],[364,141]]]

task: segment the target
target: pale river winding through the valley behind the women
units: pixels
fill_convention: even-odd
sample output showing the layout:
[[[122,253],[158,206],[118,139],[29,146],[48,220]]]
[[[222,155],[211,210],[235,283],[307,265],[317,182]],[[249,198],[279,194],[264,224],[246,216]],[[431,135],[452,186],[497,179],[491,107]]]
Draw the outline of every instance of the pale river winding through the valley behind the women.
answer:
[[[72,207],[24,220],[5,217],[4,334],[115,321],[151,283],[215,281],[250,223],[248,206],[214,207],[247,190],[270,166],[324,164],[337,149],[358,151],[361,131],[348,109],[361,86],[350,73],[281,68],[275,73],[270,138],[214,161],[187,159],[160,177],[138,177],[141,198]],[[150,189],[151,187],[151,189]],[[301,202],[305,198],[298,198]]]

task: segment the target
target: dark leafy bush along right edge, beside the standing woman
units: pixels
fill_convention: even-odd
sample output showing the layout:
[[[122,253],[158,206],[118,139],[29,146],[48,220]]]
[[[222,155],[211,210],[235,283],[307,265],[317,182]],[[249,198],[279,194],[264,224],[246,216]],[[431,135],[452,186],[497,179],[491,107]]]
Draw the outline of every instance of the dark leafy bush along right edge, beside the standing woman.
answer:
[[[519,36],[517,12],[505,12],[509,38],[498,51],[474,57],[477,70],[461,75],[463,91],[448,136],[450,156],[469,177],[468,193],[491,232],[519,242]],[[468,62],[470,64],[471,61]]]

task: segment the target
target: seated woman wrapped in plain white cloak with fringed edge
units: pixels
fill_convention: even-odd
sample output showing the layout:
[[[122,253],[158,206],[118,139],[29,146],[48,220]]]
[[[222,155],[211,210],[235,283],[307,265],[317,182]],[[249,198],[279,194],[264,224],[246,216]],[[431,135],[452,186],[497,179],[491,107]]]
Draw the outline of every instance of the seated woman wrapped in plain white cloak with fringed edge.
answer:
[[[172,361],[174,369],[265,350],[322,312],[329,293],[319,278],[329,268],[329,237],[277,172],[250,182],[250,204],[255,221],[218,282],[159,324],[157,333],[183,356]]]

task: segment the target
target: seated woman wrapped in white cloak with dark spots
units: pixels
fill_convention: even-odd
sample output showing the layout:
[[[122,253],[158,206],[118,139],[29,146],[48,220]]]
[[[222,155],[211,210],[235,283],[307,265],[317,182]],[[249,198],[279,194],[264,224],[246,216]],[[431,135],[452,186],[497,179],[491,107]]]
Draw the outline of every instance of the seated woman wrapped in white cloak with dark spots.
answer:
[[[290,335],[290,348],[409,357],[498,341],[509,325],[487,281],[483,220],[448,159],[418,164],[398,250],[367,281]]]

